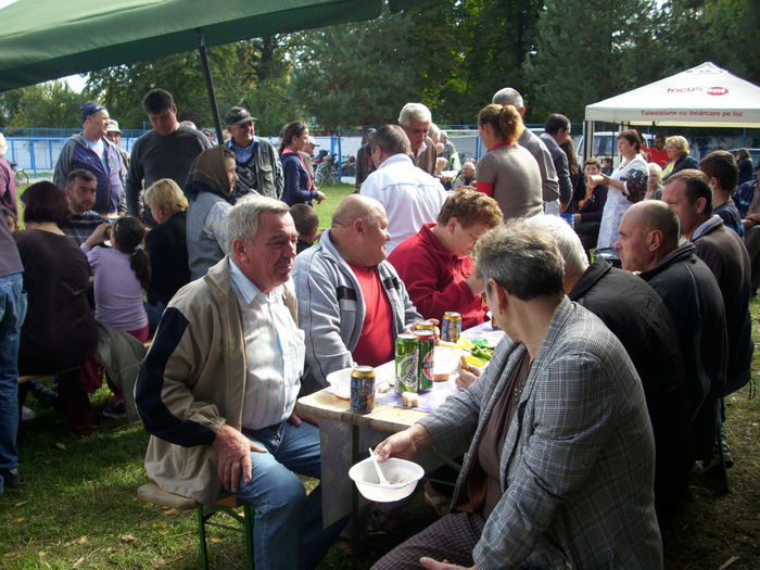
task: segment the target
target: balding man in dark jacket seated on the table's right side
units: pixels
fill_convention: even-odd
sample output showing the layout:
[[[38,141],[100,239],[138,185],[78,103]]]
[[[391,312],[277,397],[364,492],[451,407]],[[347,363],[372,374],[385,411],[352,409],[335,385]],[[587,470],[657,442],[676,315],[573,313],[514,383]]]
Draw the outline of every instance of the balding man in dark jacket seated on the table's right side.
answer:
[[[688,389],[692,457],[709,460],[729,363],[718,282],[693,243],[679,246],[679,218],[664,202],[647,200],[631,206],[618,233],[615,249],[623,269],[641,271],[673,318]]]

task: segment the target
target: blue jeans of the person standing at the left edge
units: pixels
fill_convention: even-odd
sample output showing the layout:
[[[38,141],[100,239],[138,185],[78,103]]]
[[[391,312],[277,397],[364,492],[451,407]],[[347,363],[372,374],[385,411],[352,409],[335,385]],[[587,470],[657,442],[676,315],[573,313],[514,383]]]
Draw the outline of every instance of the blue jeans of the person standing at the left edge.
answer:
[[[22,274],[0,277],[0,469],[18,467],[18,343],[26,316]],[[3,478],[0,477],[0,495]]]

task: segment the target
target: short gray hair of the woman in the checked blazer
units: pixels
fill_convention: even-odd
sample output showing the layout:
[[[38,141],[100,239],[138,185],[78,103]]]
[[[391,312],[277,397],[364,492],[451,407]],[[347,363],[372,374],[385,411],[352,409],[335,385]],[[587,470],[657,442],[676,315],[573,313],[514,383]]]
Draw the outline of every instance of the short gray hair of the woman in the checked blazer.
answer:
[[[565,294],[565,263],[552,232],[510,220],[478,240],[477,270],[493,294],[489,279],[522,301]]]

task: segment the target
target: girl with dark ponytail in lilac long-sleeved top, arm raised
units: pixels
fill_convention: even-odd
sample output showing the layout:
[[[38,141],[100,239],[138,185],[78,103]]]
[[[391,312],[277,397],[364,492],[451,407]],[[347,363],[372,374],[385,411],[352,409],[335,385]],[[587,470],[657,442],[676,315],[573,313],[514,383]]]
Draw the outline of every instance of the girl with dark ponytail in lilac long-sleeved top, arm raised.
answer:
[[[124,330],[144,342],[148,340],[148,315],[142,306],[142,290],[150,282],[150,264],[142,240],[145,227],[131,216],[118,218],[113,226],[101,224],[81,251],[94,271],[96,318]],[[111,248],[96,246],[111,239]],[[114,400],[103,415],[125,415],[124,396],[109,382]]]

